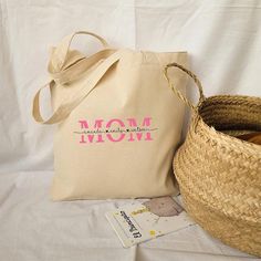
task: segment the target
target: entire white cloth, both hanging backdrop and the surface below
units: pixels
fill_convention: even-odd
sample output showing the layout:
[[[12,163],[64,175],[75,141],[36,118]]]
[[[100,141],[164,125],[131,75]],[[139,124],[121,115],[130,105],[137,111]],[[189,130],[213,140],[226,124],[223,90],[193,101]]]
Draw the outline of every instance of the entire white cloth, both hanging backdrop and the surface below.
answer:
[[[261,1],[0,0],[0,15],[1,261],[257,260],[198,226],[123,249],[104,212],[129,200],[51,202],[55,127],[33,122],[31,102],[48,81],[48,48],[79,30],[114,46],[188,51],[207,96],[261,96]],[[192,84],[188,96],[197,101]]]

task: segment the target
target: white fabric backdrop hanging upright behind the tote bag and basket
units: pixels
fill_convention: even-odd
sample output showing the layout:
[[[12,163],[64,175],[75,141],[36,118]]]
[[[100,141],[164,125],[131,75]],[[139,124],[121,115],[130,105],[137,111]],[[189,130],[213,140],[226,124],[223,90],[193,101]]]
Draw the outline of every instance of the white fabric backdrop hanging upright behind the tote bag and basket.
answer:
[[[188,51],[206,95],[261,95],[258,0],[1,0],[1,171],[52,169],[53,129],[33,123],[31,101],[48,80],[48,48],[76,30],[115,46]]]

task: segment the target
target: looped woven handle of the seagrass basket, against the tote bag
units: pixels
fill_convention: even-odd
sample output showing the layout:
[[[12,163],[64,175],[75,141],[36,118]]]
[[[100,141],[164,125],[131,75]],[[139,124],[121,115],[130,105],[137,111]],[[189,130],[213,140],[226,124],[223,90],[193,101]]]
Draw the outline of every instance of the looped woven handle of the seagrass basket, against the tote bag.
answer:
[[[174,84],[170,82],[170,79],[168,76],[168,69],[169,67],[178,67],[180,69],[181,71],[184,71],[185,73],[187,73],[192,80],[194,82],[196,83],[197,87],[198,87],[198,91],[199,91],[199,102],[198,102],[198,105],[205,100],[205,96],[203,96],[203,91],[202,91],[202,85],[200,83],[200,81],[198,80],[198,77],[192,73],[190,72],[189,70],[187,70],[186,67],[184,67],[182,65],[178,64],[178,63],[169,63],[165,66],[164,69],[164,75],[166,77],[166,80],[168,81],[168,86],[173,90],[173,92],[175,93],[175,95],[177,95],[182,102],[185,102],[190,108],[192,108],[192,111],[195,113],[197,113],[198,111],[198,105],[195,106],[187,97],[184,96],[184,94],[177,88],[174,86]]]

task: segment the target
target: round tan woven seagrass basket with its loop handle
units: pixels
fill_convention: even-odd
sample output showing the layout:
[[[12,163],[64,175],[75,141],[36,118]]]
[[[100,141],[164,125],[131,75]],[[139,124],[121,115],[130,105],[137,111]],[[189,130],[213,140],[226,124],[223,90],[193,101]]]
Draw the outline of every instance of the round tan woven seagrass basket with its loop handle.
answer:
[[[200,94],[197,106],[170,82],[171,66],[194,79]],[[188,135],[174,159],[186,210],[213,237],[261,255],[261,145],[234,137],[261,132],[261,98],[206,98],[197,76],[177,63],[165,67],[165,76],[192,109]]]

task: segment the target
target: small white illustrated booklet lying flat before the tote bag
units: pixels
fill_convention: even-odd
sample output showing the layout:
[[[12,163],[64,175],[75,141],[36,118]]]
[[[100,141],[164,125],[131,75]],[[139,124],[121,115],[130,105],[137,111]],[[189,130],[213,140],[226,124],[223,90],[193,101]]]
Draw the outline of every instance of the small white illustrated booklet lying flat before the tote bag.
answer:
[[[176,206],[178,211],[175,210],[173,217],[159,217],[153,213],[149,210],[152,203],[149,206],[147,203],[147,207],[145,202],[125,205],[106,212],[106,218],[121,239],[123,247],[129,248],[139,242],[195,225],[177,202],[174,205],[178,206]],[[173,210],[170,212],[174,213]]]

